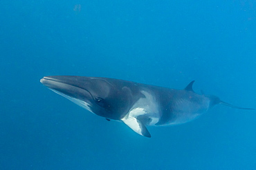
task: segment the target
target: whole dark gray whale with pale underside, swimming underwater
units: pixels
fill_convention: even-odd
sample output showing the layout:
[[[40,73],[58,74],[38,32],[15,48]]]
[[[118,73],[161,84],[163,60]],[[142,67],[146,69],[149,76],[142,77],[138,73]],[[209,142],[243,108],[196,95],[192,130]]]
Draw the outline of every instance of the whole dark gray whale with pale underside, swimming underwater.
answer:
[[[40,82],[93,114],[107,120],[122,120],[146,137],[151,137],[147,125],[188,123],[214,105],[250,109],[230,105],[217,96],[196,94],[192,89],[194,81],[185,89],[85,76],[45,76]]]

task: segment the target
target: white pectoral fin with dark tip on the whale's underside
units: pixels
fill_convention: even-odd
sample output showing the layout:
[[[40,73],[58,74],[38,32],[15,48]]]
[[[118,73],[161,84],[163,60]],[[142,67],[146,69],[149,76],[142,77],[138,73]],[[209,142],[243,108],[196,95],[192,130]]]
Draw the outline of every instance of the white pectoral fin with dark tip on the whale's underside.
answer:
[[[131,129],[133,129],[137,134],[140,134],[141,136],[145,136],[147,138],[151,138],[147,127],[145,127],[145,125],[141,123],[140,120],[138,120],[137,118],[122,118],[122,121]]]

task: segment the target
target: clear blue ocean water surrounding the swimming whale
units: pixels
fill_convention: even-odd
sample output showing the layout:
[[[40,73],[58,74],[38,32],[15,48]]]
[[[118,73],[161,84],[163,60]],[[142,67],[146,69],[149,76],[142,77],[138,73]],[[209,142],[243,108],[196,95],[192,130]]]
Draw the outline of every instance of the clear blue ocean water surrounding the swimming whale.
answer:
[[[0,2],[0,169],[256,169],[256,112],[218,105],[175,127],[123,123],[54,94],[102,76],[256,107],[256,10],[241,1]]]

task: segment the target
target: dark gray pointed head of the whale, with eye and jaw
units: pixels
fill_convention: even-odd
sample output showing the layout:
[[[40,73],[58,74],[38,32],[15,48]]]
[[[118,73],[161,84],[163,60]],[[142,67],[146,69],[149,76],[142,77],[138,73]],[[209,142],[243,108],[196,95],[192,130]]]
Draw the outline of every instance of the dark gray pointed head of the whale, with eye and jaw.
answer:
[[[115,83],[112,78],[93,78],[82,76],[45,76],[43,85],[77,105],[113,120],[120,120],[133,103],[129,87]]]

